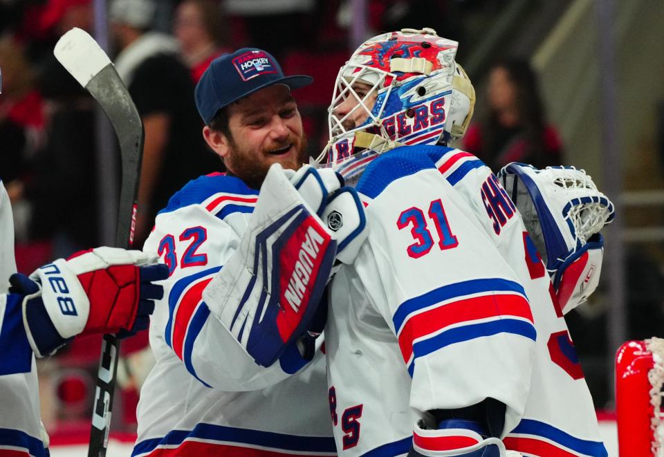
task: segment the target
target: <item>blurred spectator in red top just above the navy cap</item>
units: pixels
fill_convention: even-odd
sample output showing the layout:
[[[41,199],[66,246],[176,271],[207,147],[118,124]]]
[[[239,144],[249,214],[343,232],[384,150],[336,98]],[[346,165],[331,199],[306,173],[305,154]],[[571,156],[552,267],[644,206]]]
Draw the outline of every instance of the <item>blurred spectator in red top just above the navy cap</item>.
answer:
[[[175,11],[173,30],[194,83],[199,82],[213,59],[230,50],[219,2],[183,1]]]

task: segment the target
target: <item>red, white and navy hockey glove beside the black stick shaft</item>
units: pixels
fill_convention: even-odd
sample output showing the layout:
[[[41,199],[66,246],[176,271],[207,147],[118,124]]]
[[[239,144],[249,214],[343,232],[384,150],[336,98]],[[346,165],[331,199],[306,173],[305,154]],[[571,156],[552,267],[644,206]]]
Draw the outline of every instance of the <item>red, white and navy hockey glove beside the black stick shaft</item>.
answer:
[[[96,248],[57,259],[26,277],[12,274],[10,293],[24,295],[24,326],[37,357],[54,353],[76,335],[128,337],[149,325],[166,265],[140,251]]]

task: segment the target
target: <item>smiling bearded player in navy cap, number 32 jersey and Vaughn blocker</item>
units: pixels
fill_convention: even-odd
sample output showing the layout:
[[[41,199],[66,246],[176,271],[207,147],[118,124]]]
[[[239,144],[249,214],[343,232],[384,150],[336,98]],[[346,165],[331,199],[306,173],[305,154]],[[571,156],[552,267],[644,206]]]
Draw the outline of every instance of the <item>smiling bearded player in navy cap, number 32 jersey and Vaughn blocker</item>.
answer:
[[[185,185],[145,243],[170,276],[133,456],[336,454],[316,323],[332,268],[352,261],[365,223],[338,174],[302,166],[291,90],[310,83],[243,48],[196,86],[203,136],[228,173]],[[343,228],[326,222],[338,217]]]

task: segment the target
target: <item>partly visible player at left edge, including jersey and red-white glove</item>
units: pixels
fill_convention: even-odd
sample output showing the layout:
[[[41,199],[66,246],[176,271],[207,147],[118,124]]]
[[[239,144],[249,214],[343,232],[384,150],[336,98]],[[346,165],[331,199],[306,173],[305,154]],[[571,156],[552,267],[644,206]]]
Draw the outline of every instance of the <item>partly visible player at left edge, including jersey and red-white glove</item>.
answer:
[[[163,295],[151,282],[165,279],[167,268],[140,251],[96,248],[30,277],[16,274],[12,213],[1,182],[0,228],[0,454],[46,456],[34,356],[51,355],[77,335],[145,330],[154,299]]]

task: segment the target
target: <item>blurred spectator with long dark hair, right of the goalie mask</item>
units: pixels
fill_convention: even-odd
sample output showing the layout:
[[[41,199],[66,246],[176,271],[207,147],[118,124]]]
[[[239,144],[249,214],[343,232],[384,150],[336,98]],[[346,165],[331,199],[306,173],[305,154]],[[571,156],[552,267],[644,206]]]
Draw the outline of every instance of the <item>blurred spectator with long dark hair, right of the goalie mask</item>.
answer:
[[[537,168],[562,163],[562,143],[547,124],[537,75],[528,61],[510,59],[495,64],[489,74],[488,115],[471,124],[463,149],[497,172],[509,162]]]

